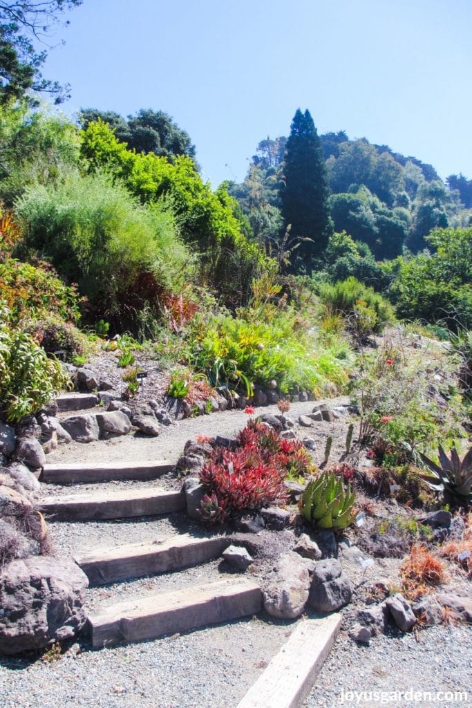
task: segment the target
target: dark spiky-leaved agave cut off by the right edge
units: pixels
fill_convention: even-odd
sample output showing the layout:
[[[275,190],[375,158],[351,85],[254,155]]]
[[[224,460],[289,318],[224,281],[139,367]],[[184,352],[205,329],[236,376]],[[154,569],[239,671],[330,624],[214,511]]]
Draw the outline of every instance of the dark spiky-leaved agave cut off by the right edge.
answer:
[[[451,457],[447,457],[441,445],[438,445],[439,464],[426,455],[421,455],[422,461],[430,468],[430,474],[420,474],[431,489],[442,491],[446,501],[470,506],[472,504],[472,447],[461,462],[455,447],[451,449]]]

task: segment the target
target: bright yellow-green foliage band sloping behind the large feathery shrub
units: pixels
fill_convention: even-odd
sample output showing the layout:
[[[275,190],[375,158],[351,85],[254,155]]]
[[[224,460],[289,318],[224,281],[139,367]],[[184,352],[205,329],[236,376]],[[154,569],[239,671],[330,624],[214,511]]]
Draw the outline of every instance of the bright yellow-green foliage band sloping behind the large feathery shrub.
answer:
[[[90,123],[84,131],[82,154],[92,169],[105,169],[120,178],[143,202],[166,196],[185,241],[200,253],[208,284],[233,304],[247,297],[262,254],[243,235],[234,216],[236,202],[226,190],[213,193],[189,157],[169,162],[154,153],[137,154],[101,121]]]

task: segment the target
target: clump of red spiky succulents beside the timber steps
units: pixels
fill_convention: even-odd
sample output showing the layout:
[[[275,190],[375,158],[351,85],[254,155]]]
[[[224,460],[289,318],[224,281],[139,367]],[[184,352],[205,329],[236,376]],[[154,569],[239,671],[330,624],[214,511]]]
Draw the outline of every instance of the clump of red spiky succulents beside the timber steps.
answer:
[[[281,440],[275,430],[257,421],[249,421],[237,440],[236,450],[215,447],[200,472],[207,490],[202,500],[202,519],[207,523],[221,523],[234,513],[284,498],[284,479],[312,470],[300,442]]]

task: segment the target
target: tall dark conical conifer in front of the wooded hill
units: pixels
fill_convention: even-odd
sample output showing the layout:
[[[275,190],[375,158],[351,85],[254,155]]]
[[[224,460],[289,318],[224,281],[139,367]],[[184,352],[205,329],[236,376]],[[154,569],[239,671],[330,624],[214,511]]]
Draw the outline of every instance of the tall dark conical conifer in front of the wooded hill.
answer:
[[[294,115],[282,172],[282,216],[291,238],[301,239],[292,270],[309,272],[333,232],[323,149],[309,110]]]

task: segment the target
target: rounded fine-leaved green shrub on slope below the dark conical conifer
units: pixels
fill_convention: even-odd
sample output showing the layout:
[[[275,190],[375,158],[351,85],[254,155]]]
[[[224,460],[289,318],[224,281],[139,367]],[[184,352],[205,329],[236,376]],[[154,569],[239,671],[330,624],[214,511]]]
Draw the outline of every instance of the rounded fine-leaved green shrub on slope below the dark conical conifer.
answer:
[[[326,313],[342,314],[350,329],[359,337],[380,333],[394,318],[391,304],[356,278],[333,284],[321,282],[318,284],[318,295]]]

